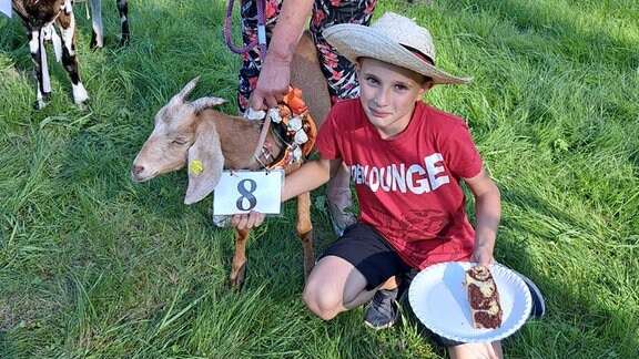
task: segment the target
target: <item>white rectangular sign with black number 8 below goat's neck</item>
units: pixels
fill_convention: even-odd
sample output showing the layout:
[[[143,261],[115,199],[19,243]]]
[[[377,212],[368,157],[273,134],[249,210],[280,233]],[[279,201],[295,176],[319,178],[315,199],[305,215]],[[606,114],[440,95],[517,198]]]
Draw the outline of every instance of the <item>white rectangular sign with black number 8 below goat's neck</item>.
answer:
[[[224,171],[213,193],[213,214],[280,214],[283,171]]]

